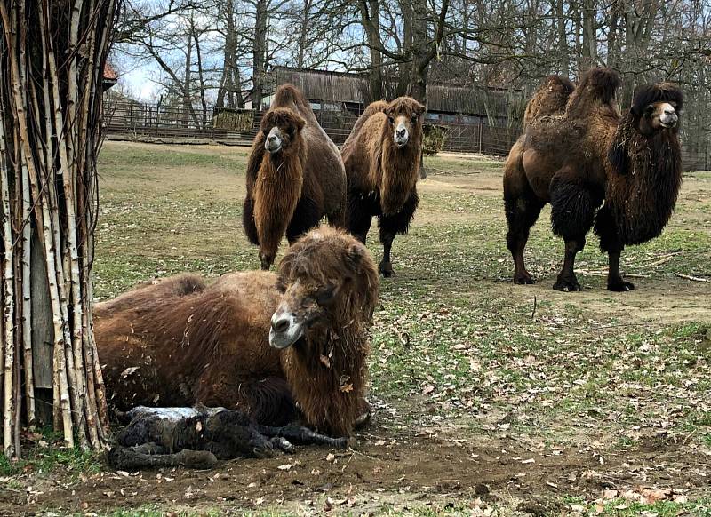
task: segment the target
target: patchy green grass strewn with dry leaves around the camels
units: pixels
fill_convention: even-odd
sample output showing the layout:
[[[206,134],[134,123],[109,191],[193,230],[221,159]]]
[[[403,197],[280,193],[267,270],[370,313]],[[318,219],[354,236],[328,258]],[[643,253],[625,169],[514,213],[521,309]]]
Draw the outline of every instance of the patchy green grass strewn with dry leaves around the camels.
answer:
[[[241,227],[245,163],[242,148],[109,142],[100,155],[97,297],[182,271],[213,278],[258,268],[257,251]],[[501,162],[440,155],[425,163],[430,176],[419,187],[420,208],[410,234],[395,240],[398,275],[381,284],[371,330],[371,394],[394,410],[378,421],[385,428],[379,433],[457,422],[472,438],[513,434],[548,446],[585,447],[595,433],[611,436],[608,446],[627,452],[664,429],[711,449],[711,296],[703,285],[675,277],[711,272],[711,174],[686,179],[675,216],[658,239],[624,252],[623,270],[647,277],[636,281],[639,291],[604,290],[605,279],[595,272],[607,258],[590,235],[577,262],[586,290],[563,294],[550,289],[563,243],[550,231],[548,208],[531,231],[526,255],[539,285],[510,283]],[[373,232],[368,244],[379,260],[377,241]],[[25,465],[39,472],[100,468],[80,453],[38,449],[23,465],[0,457],[0,475]],[[708,515],[707,499],[700,501],[611,501],[603,513]],[[459,515],[474,504],[467,497],[419,510],[384,504],[374,514]],[[596,511],[590,501],[580,504]],[[511,505],[496,512],[509,514]]]

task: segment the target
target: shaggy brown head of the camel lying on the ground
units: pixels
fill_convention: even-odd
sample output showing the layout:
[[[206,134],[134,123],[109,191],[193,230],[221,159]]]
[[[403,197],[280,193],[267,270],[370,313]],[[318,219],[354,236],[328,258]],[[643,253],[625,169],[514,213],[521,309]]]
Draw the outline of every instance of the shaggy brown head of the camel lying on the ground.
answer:
[[[282,298],[269,344],[318,346],[317,336],[363,330],[378,299],[378,271],[353,236],[330,227],[312,230],[287,251],[278,268]],[[316,355],[318,357],[318,355]]]

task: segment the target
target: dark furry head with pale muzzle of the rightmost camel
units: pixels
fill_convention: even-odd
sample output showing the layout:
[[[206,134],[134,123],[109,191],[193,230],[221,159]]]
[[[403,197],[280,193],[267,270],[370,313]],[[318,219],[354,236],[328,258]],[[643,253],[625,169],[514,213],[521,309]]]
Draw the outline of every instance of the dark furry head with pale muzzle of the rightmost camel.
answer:
[[[647,84],[635,92],[630,111],[637,129],[646,136],[658,131],[678,131],[683,93],[674,84]]]

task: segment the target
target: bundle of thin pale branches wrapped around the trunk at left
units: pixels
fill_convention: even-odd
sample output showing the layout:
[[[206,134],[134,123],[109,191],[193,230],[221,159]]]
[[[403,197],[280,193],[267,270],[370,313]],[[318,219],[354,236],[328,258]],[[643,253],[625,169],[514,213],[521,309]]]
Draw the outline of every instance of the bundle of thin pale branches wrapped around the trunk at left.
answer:
[[[91,272],[103,69],[119,1],[0,0],[0,385],[11,457],[20,456],[23,407],[36,422],[33,371],[49,366],[33,365],[33,313],[52,318],[55,429],[70,447],[106,442]],[[30,297],[40,274],[45,313]]]

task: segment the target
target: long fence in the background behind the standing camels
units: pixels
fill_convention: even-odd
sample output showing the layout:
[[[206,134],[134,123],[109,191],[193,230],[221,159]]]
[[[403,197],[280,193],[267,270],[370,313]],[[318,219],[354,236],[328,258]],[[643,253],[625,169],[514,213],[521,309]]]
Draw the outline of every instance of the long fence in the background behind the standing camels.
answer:
[[[217,107],[166,107],[132,101],[104,103],[109,136],[162,143],[218,142],[250,145],[260,127],[263,112]],[[350,134],[357,115],[345,109],[316,109],[316,119],[340,146]],[[444,130],[443,151],[506,156],[520,136],[520,126],[436,121]],[[684,171],[708,171],[711,153],[707,143],[683,148]]]

